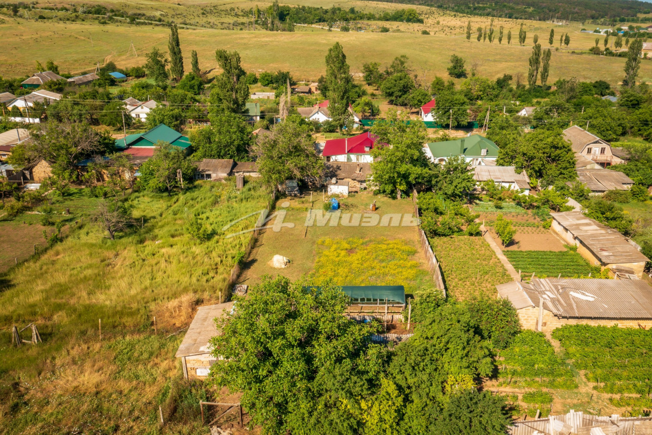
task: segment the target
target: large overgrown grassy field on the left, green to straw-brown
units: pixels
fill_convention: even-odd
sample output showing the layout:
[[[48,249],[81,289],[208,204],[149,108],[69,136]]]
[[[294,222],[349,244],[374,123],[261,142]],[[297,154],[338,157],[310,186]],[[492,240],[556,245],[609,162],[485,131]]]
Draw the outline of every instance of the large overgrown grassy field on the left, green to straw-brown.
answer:
[[[111,241],[84,223],[0,276],[0,431],[157,433],[160,404],[168,430],[203,433],[190,418],[201,391],[181,381],[173,357],[183,334],[170,334],[188,325],[196,304],[226,293],[249,234],[225,238],[222,227],[268,199],[256,182],[242,191],[230,181],[172,197],[135,193],[127,201],[139,223],[143,217],[142,229]],[[212,234],[206,242],[186,234],[192,214]],[[31,322],[44,343],[9,346],[12,325]]]

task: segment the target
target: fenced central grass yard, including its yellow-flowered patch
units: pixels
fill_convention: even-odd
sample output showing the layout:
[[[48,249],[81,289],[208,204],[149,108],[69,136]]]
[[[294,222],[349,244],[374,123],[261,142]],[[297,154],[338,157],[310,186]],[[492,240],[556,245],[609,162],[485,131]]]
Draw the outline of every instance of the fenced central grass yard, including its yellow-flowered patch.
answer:
[[[371,212],[370,204],[374,201],[376,212]],[[284,204],[287,206],[284,207]],[[322,204],[321,191],[314,193],[312,210],[321,212]],[[411,199],[388,199],[374,196],[369,191],[342,199],[341,204],[342,214],[370,213],[383,216],[413,213]],[[419,287],[421,272],[417,272],[417,268],[426,272],[428,269],[419,247],[416,227],[306,227],[306,216],[310,208],[310,193],[304,198],[282,198],[276,201],[277,211],[287,211],[284,223],[293,224],[293,227],[286,227],[278,232],[266,229],[261,233],[245,263],[239,280],[241,283],[254,285],[260,282],[261,276],[265,274],[280,274],[297,280],[318,269],[318,273],[334,278],[342,285],[365,282],[398,284],[394,279],[400,277],[400,280],[406,280],[400,282],[406,285],[406,289]],[[288,267],[273,268],[269,265],[269,261],[277,254],[288,257]],[[333,264],[329,265],[329,262]],[[385,270],[385,264],[391,264],[393,269]],[[408,275],[402,274],[403,272],[396,269],[400,265],[407,266],[411,272]],[[338,270],[329,271],[329,267]],[[376,275],[377,273],[379,275]]]

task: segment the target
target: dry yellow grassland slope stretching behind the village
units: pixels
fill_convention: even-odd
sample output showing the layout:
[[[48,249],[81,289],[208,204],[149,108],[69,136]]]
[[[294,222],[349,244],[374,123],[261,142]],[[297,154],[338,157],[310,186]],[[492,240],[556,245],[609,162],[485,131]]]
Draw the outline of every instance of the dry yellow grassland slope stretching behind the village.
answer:
[[[296,0],[295,0],[296,1]],[[102,2],[104,3],[104,2]],[[301,0],[299,0],[301,3]],[[47,5],[43,3],[42,5]],[[111,5],[111,3],[108,3]],[[118,4],[120,5],[120,4]],[[162,5],[158,8],[158,5]],[[312,5],[312,3],[311,3]],[[319,5],[319,4],[318,4]],[[331,3],[328,4],[330,6]],[[364,8],[401,8],[406,5],[388,3],[352,1],[338,3]],[[261,3],[259,7],[263,7]],[[130,7],[125,7],[129,9]],[[181,7],[169,3],[139,2],[136,10],[149,11],[164,16],[171,22],[181,22],[185,16],[201,16],[196,8],[183,4]],[[215,7],[233,8],[233,13],[250,8],[250,3],[225,3]],[[176,8],[174,11],[171,8]],[[237,8],[240,8],[239,10]],[[247,30],[248,26],[234,27],[233,30],[205,29],[183,26],[179,30],[181,48],[185,54],[186,71],[190,70],[190,50],[197,50],[200,67],[209,74],[215,74],[215,49],[237,50],[241,54],[246,71],[290,71],[297,80],[316,80],[325,71],[324,57],[330,46],[340,42],[348,56],[351,72],[361,76],[362,65],[369,61],[379,61],[389,65],[396,56],[409,57],[409,65],[417,74],[418,80],[429,84],[434,76],[448,78],[446,68],[452,54],[463,57],[467,67],[475,67],[478,74],[497,78],[505,73],[520,75],[524,82],[527,76],[527,58],[531,52],[531,37],[539,34],[539,40],[548,46],[547,39],[550,24],[543,22],[524,22],[528,32],[525,46],[519,46],[516,37],[520,21],[496,19],[494,27],[505,27],[503,44],[497,40],[477,42],[475,35],[467,41],[465,37],[467,20],[472,27],[488,25],[484,17],[467,17],[459,14],[442,12],[434,8],[417,7],[426,18],[424,24],[372,22],[366,23],[370,29],[380,25],[389,26],[389,33],[376,31],[341,32],[327,31],[316,27],[296,27],[294,32],[267,32],[264,30]],[[204,11],[205,12],[205,11]],[[210,14],[209,14],[210,15]],[[123,22],[98,24],[97,22],[71,22],[62,18],[51,20],[27,20],[22,16],[0,15],[0,37],[4,50],[0,52],[2,75],[7,77],[24,76],[34,70],[34,61],[41,62],[52,58],[60,65],[62,72],[79,73],[91,71],[97,62],[100,65],[114,61],[119,67],[143,65],[144,54],[153,47],[167,50],[169,31],[162,25],[130,25]],[[222,19],[222,18],[220,18]],[[190,18],[188,18],[190,20]],[[192,20],[190,20],[192,21]],[[556,35],[568,32],[571,44],[560,50],[554,48],[550,79],[576,76],[579,80],[606,80],[617,84],[623,76],[624,58],[593,56],[580,54],[595,44],[595,35],[580,33],[580,23],[568,27],[556,27]],[[430,35],[421,35],[428,30]],[[512,44],[507,45],[507,31],[512,31]],[[138,57],[129,54],[131,42],[134,42]],[[558,37],[555,46],[558,46]],[[578,67],[582,65],[582,67]],[[640,80],[652,80],[652,63],[644,61],[640,69]],[[459,81],[459,80],[456,80]]]

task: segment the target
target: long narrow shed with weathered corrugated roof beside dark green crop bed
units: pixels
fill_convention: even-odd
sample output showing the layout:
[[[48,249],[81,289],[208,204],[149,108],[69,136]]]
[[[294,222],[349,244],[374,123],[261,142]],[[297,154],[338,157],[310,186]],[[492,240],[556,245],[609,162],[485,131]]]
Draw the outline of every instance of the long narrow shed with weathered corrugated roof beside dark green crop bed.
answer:
[[[615,229],[585,217],[580,212],[550,213],[550,229],[591,265],[608,268],[612,275],[627,274],[641,278],[650,261],[629,239]]]

